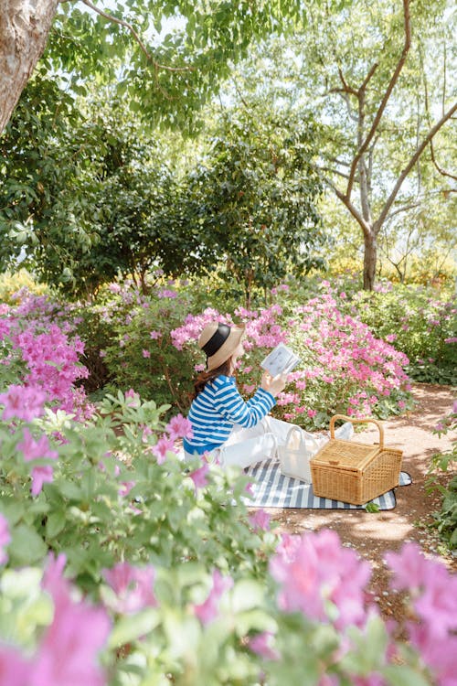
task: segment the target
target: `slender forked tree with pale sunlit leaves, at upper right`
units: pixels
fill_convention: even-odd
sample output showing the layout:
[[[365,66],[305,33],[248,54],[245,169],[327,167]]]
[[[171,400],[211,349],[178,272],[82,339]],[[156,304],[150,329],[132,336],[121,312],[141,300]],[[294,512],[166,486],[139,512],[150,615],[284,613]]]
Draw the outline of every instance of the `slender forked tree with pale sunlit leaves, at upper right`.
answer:
[[[450,97],[451,15],[443,1],[433,16],[429,4],[409,0],[307,6],[304,32],[263,47],[248,87],[269,88],[295,113],[315,113],[315,168],[362,231],[364,287],[371,289],[381,230],[424,199],[425,186],[413,176],[432,165],[431,190],[441,184],[442,198],[452,193],[455,177],[443,168],[440,145],[457,108]],[[237,75],[240,97],[244,71]]]

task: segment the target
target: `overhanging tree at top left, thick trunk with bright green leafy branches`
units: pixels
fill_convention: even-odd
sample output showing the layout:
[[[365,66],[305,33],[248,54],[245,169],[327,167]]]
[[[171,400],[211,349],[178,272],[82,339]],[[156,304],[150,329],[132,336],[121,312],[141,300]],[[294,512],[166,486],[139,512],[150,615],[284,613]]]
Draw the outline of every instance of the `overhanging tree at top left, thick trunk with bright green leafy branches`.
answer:
[[[305,19],[300,0],[114,0],[110,7],[2,1],[0,133],[45,47],[43,64],[67,75],[73,91],[87,80],[111,81],[145,119],[184,130],[253,39]]]

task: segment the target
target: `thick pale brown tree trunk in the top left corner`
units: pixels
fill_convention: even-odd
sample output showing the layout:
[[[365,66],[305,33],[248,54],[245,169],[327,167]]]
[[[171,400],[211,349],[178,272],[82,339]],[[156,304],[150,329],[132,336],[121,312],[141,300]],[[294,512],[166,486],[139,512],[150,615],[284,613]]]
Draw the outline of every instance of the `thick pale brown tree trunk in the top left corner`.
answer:
[[[46,47],[59,0],[0,0],[0,134]]]

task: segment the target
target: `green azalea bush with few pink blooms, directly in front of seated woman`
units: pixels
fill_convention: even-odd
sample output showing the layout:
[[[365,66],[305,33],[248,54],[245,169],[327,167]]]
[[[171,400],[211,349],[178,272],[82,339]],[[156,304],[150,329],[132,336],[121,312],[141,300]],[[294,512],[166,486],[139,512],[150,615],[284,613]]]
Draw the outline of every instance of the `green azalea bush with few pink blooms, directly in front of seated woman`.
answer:
[[[209,473],[199,458],[184,465],[173,452],[189,432],[181,415],[165,426],[166,408],[133,391],[108,396],[84,423],[44,408],[27,386],[10,387],[0,403],[0,510],[11,523],[12,565],[64,552],[87,591],[120,560],[199,560],[235,575],[264,565],[241,502],[247,477]]]

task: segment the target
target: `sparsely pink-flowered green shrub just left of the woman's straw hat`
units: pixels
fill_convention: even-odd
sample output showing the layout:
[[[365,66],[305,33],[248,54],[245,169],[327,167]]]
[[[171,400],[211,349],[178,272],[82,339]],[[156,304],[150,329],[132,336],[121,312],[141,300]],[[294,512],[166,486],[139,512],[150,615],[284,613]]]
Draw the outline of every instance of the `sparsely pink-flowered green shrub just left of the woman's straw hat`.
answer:
[[[160,285],[143,295],[129,282],[111,284],[96,305],[80,308],[79,331],[88,341],[90,370],[99,376],[103,366],[108,390],[134,388],[143,398],[186,411],[192,358],[170,345],[170,330],[192,305],[191,298],[177,295]]]

